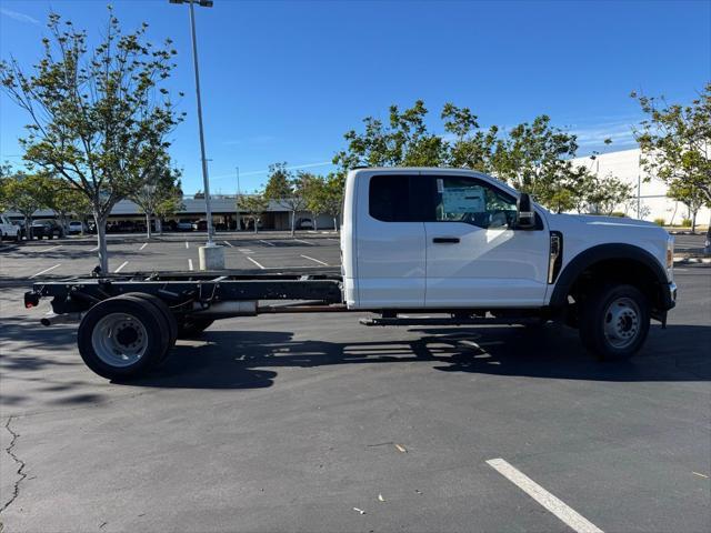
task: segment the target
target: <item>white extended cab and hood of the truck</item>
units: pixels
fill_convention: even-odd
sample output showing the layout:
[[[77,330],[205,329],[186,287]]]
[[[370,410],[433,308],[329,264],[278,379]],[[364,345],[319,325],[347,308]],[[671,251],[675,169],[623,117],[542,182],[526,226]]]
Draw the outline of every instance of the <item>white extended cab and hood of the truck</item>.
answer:
[[[622,351],[639,348],[650,318],[664,322],[675,299],[673,240],[662,228],[551,213],[471,170],[351,171],[341,250],[349,309],[597,320],[603,335],[614,322],[608,336],[634,341],[617,342]]]

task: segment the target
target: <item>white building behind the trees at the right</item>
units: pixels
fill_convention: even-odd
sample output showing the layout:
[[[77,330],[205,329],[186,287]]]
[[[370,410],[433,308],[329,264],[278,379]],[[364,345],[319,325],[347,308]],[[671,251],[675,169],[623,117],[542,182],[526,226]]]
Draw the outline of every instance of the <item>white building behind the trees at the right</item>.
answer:
[[[613,174],[632,185],[633,197],[623,205],[619,205],[615,211],[624,212],[635,219],[650,221],[664,219],[667,224],[681,225],[682,219],[691,218],[689,210],[683,203],[667,197],[667,185],[663,181],[642,170],[640,155],[640,149],[635,148],[603,153],[594,160],[577,158],[573,162],[588,168],[601,178]],[[700,209],[697,214],[697,224],[708,224],[709,215],[708,208]]]

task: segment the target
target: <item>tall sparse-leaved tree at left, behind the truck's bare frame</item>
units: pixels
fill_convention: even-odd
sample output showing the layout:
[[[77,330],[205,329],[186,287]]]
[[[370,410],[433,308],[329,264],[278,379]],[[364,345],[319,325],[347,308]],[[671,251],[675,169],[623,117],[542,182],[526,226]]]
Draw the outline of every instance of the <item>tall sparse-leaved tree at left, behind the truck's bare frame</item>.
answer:
[[[122,33],[109,7],[100,42],[49,16],[43,54],[28,71],[0,62],[0,84],[30,118],[20,139],[30,169],[73,184],[91,203],[101,270],[108,272],[106,222],[113,205],[141,189],[181,120],[162,83],[174,67],[168,40],[153,47],[148,24]]]

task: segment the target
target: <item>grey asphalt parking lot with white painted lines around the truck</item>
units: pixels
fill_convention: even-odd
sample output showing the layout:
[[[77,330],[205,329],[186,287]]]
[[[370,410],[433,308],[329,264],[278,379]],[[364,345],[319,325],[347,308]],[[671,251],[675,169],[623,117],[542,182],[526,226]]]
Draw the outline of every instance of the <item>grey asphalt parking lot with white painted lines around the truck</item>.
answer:
[[[230,269],[279,270],[338,268],[337,239],[218,242]],[[110,270],[197,270],[202,242],[112,237]],[[84,368],[76,325],[42,328],[46,308],[21,303],[34,280],[90,272],[94,247],[2,245],[6,531],[709,531],[707,265],[677,269],[667,330],[628,362],[553,325],[262,315],[119,384]]]

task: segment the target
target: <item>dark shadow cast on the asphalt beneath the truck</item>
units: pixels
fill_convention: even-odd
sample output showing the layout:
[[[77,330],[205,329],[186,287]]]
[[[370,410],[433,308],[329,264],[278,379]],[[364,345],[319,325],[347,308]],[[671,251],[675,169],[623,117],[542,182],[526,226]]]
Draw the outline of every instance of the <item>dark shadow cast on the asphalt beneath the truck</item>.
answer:
[[[271,386],[279,368],[427,363],[440,372],[560,380],[711,381],[711,326],[653,326],[645,349],[629,361],[598,361],[574,331],[544,328],[411,329],[418,339],[294,341],[291,332],[207,331],[179,342],[168,361],[131,385],[190,389]],[[269,370],[266,370],[269,369]]]

